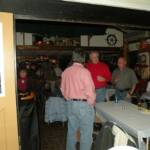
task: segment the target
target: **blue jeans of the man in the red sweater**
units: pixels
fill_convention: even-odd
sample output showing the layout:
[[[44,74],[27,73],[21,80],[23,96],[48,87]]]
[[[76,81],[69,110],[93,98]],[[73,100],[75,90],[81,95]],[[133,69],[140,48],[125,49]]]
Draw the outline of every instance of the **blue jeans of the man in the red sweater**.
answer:
[[[104,102],[106,98],[106,88],[96,89],[96,103]]]

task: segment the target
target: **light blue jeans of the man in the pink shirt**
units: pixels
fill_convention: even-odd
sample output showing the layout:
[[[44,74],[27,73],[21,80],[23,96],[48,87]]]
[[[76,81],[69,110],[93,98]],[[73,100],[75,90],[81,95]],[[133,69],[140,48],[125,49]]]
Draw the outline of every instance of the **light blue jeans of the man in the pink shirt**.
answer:
[[[68,101],[68,133],[66,150],[76,150],[76,132],[80,130],[80,150],[91,150],[94,108],[87,102]]]

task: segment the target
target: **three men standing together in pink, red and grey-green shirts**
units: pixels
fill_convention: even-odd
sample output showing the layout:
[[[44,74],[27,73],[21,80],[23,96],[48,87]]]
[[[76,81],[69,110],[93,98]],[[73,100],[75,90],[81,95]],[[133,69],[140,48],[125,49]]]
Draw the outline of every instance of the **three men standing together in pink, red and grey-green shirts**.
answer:
[[[83,51],[73,52],[73,64],[62,74],[61,91],[67,100],[68,111],[67,150],[76,149],[78,129],[81,134],[80,150],[91,149],[94,106],[105,101],[108,83],[116,89],[118,100],[124,100],[131,97],[138,82],[124,57],[118,58],[118,68],[112,74],[109,67],[100,62],[97,51],[92,51],[89,57],[90,62],[85,63]]]

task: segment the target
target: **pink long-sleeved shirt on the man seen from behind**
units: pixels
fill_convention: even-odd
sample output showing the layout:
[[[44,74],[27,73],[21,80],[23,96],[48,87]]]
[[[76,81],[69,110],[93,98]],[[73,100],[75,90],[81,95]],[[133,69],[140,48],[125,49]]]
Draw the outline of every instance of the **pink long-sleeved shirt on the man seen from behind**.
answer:
[[[95,105],[95,86],[90,72],[79,63],[74,63],[62,74],[61,91],[66,100],[87,99]]]

